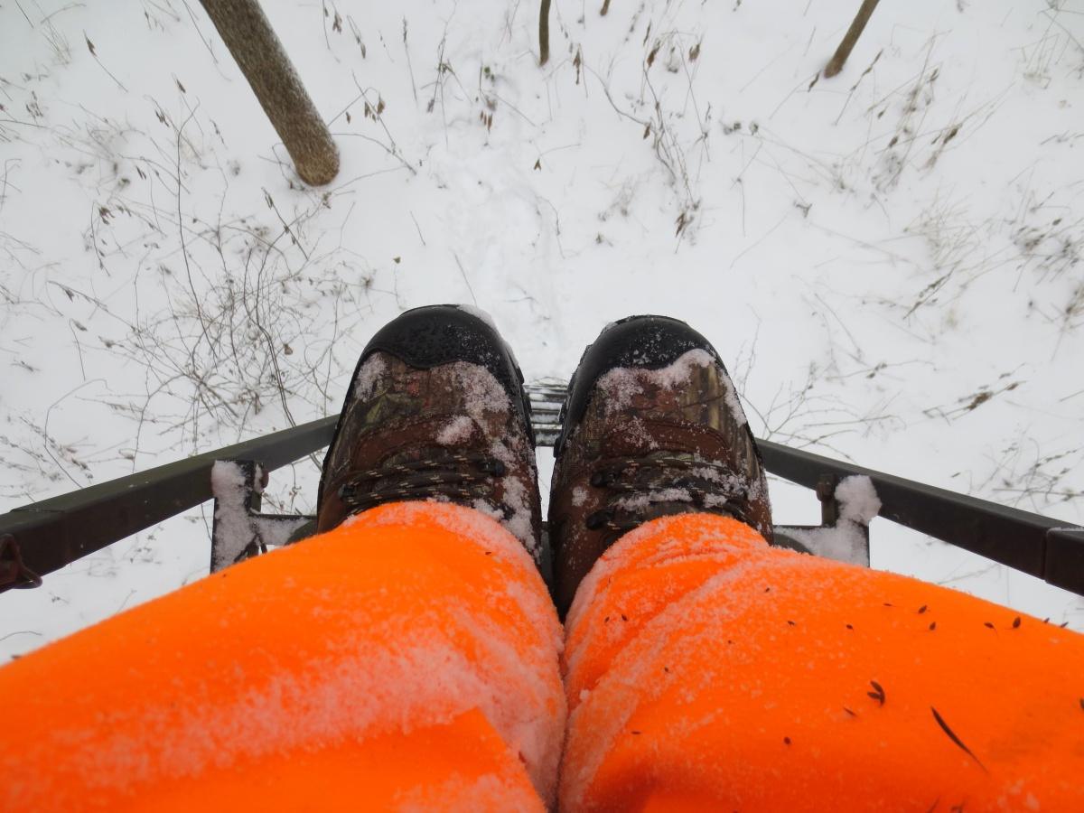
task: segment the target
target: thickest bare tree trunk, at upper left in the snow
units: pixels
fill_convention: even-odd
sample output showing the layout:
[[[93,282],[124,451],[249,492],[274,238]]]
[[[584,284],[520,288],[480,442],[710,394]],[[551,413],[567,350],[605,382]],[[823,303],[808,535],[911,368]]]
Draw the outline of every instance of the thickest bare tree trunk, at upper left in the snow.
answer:
[[[338,173],[338,150],[258,0],[201,0],[286,145],[301,180],[314,186]]]

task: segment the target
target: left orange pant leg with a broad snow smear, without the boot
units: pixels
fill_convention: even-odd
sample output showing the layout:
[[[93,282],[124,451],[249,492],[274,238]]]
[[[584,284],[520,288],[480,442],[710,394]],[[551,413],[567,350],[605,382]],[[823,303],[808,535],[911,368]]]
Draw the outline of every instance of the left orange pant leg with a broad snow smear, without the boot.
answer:
[[[0,669],[0,810],[540,809],[560,638],[495,521],[375,508]]]

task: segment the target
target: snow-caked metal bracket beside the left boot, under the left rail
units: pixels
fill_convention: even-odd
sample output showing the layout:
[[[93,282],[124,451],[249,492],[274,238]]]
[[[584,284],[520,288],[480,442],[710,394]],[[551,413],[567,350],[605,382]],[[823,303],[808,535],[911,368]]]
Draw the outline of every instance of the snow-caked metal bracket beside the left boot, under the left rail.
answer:
[[[212,573],[313,532],[315,517],[260,513],[268,477],[268,472],[255,461],[216,461],[211,469],[215,494],[215,529],[210,543]]]

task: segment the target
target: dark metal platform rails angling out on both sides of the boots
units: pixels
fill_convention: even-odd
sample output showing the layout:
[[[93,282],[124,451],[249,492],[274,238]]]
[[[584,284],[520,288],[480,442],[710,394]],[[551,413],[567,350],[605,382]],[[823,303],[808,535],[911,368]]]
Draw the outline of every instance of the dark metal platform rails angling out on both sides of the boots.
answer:
[[[255,460],[266,470],[280,468],[327,446],[337,420],[312,421],[15,508],[0,515],[0,537],[14,538],[26,569],[50,573],[210,500],[215,461]],[[540,441],[553,442],[555,430],[540,429]],[[772,474],[814,490],[826,474],[869,477],[880,516],[1084,594],[1084,528],[771,441],[759,446]]]

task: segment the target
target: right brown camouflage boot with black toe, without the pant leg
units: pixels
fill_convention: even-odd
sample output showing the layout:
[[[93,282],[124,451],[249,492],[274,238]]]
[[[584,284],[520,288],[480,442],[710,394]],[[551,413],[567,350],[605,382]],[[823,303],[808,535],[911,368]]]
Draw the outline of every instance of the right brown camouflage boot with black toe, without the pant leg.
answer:
[[[772,540],[760,452],[711,344],[684,322],[630,317],[588,347],[568,385],[550,492],[554,594],[621,534],[671,514],[734,517]]]

